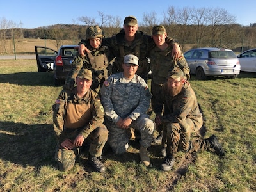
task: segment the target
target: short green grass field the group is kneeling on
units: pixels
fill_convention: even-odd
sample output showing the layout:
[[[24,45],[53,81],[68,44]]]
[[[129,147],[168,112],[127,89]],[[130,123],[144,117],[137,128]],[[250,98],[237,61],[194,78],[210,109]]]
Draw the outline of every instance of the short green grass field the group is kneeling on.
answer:
[[[171,172],[161,172],[159,145],[148,150],[152,167],[130,142],[127,154],[108,149],[105,173],[94,172],[82,154],[72,170],[54,162],[52,104],[61,91],[52,72],[36,72],[35,60],[0,63],[0,191],[256,191],[255,73],[237,79],[189,81],[205,118],[205,138],[216,134],[226,156],[178,153]]]

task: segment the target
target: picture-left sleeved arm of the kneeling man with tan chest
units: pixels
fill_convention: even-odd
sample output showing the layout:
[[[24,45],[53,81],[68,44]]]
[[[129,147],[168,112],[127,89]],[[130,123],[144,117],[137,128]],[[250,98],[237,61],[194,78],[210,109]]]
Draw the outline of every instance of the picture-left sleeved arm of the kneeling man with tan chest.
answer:
[[[58,140],[61,140],[61,132],[64,127],[64,116],[65,116],[65,92],[61,91],[60,95],[56,99],[52,106],[53,111],[53,129],[55,136]]]

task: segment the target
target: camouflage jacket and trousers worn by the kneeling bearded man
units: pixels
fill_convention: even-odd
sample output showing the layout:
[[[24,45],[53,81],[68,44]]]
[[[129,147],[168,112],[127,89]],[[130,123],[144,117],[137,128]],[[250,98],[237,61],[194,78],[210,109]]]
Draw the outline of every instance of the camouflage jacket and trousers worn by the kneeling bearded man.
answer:
[[[167,85],[164,84],[161,97],[157,97],[156,101],[156,115],[161,115],[164,103],[165,115],[162,122],[166,125],[163,126],[163,131],[167,134],[166,156],[173,157],[178,150],[198,151],[211,148],[208,140],[189,141],[191,132],[198,131],[203,120],[195,92],[188,83],[184,84],[182,91],[175,97],[168,93]]]

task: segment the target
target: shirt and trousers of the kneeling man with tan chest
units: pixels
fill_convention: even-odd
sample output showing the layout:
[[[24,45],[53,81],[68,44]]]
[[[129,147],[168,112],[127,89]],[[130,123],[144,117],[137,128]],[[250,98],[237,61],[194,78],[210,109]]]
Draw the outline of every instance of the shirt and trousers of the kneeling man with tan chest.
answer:
[[[70,93],[63,90],[52,106],[53,127],[58,140],[55,159],[61,170],[70,170],[79,154],[79,147],[72,150],[61,147],[67,138],[73,141],[81,134],[90,143],[89,153],[92,157],[101,156],[102,148],[108,140],[99,95],[88,90],[83,98],[79,98],[76,93],[76,87]]]

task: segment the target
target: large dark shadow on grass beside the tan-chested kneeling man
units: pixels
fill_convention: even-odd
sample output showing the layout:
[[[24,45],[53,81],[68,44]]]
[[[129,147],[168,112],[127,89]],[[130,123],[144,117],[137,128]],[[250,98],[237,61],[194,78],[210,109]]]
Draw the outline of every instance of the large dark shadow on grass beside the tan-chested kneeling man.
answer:
[[[24,167],[55,164],[52,125],[0,122],[0,158]]]

